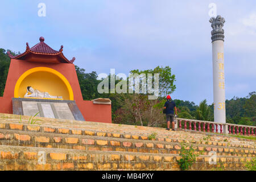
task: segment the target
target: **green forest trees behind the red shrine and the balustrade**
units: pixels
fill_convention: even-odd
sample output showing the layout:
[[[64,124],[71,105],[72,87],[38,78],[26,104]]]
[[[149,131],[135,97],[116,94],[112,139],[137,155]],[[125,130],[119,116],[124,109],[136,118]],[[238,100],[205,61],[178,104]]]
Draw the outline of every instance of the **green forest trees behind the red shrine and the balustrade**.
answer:
[[[11,52],[12,55],[17,53]],[[10,66],[10,58],[7,50],[0,48],[0,96],[3,96],[5,83]],[[170,67],[156,67],[155,69],[130,71],[130,73],[147,75],[148,73],[159,73],[159,97],[157,100],[148,100],[145,93],[98,93],[97,86],[102,80],[98,80],[97,73],[86,73],[85,69],[75,66],[77,77],[84,100],[94,98],[110,98],[112,100],[112,121],[114,123],[157,126],[165,125],[165,115],[162,113],[166,95],[172,94],[175,89],[176,77],[171,73]],[[110,75],[109,75],[110,77]],[[115,77],[117,78],[117,77]],[[115,79],[115,84],[122,79]],[[127,83],[128,83],[127,79]],[[154,82],[154,80],[153,80]],[[154,83],[152,84],[154,85]],[[110,88],[110,87],[109,87]],[[196,105],[193,101],[183,101],[174,99],[179,118],[199,119],[213,121],[213,104],[208,104],[207,100]],[[256,126],[256,92],[250,92],[246,97],[233,97],[226,100],[226,122],[239,125]]]

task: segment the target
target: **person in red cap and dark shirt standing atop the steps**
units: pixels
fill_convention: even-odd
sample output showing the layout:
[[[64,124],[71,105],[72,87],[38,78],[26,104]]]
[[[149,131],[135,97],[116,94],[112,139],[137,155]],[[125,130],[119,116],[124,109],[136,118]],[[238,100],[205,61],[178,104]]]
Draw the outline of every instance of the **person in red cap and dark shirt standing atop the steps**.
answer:
[[[167,96],[167,101],[164,104],[164,109],[166,109],[166,121],[167,121],[167,129],[170,130],[170,121],[172,122],[172,130],[175,131],[175,122],[174,117],[177,117],[177,108],[175,102],[171,100],[171,96]],[[174,115],[175,110],[175,115]]]

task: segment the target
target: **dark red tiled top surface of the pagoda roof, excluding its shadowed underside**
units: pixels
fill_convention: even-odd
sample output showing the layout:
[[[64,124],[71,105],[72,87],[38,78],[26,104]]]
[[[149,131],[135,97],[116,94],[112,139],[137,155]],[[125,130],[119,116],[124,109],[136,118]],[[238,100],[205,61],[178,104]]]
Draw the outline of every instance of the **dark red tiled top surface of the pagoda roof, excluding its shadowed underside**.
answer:
[[[32,53],[32,54],[39,54],[39,55],[58,56],[61,59],[61,63],[73,63],[73,61],[75,61],[75,57],[73,57],[73,59],[69,61],[63,55],[63,53],[62,53],[63,46],[60,47],[59,51],[55,51],[54,49],[49,47],[46,43],[44,43],[43,37],[40,37],[39,40],[40,40],[40,42],[31,48],[28,46],[28,43],[26,43],[27,44],[26,51],[21,53],[20,55],[13,56],[10,54],[10,52],[7,52],[7,53],[11,59],[22,59],[23,60],[23,59],[25,59],[27,54]]]

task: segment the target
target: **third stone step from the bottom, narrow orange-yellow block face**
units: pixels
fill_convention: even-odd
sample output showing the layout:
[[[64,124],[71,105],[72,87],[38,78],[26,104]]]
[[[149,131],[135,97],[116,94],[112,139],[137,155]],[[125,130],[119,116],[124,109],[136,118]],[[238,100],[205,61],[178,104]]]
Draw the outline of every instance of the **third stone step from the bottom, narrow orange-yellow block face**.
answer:
[[[93,123],[94,122],[90,122]],[[47,125],[48,124],[48,125]],[[66,123],[67,124],[67,123]],[[109,125],[115,125],[115,124],[109,124]],[[117,127],[118,125],[115,125],[115,127]],[[125,125],[123,127],[131,127],[129,125]],[[132,126],[134,127],[134,126]],[[73,127],[53,127],[52,125],[49,125],[49,123],[46,123],[44,125],[29,125],[27,123],[17,123],[17,122],[2,122],[0,121],[0,129],[14,129],[14,130],[24,130],[24,131],[41,131],[41,132],[49,132],[49,133],[61,133],[61,134],[81,134],[81,135],[97,135],[97,136],[105,136],[105,137],[117,137],[117,138],[127,138],[127,139],[143,139],[143,140],[147,140],[148,136],[150,134],[152,134],[152,131],[146,133],[137,129],[137,130],[133,130],[133,133],[127,133],[126,132],[119,132],[118,130],[112,130],[109,131],[107,129],[105,129],[104,131],[104,126],[102,126],[102,129],[99,129],[99,127],[95,128],[95,129],[91,129],[89,127],[84,127],[84,126],[73,126]],[[147,130],[151,130],[152,127],[145,127]],[[122,129],[123,130],[123,129]],[[198,143],[198,144],[207,144],[210,143],[211,141],[213,141],[213,143],[216,142],[222,142],[223,145],[227,145],[230,144],[230,142],[232,142],[233,144],[236,144],[236,146],[239,144],[240,147],[253,147],[255,148],[255,143],[254,142],[250,142],[247,141],[246,139],[238,139],[238,138],[234,138],[234,137],[226,137],[226,136],[222,136],[219,135],[218,137],[216,137],[216,135],[214,135],[213,137],[207,138],[207,134],[201,134],[201,133],[197,133],[197,134],[191,134],[189,132],[184,132],[184,131],[165,131],[164,129],[157,129],[155,131],[156,132],[156,140],[170,140],[170,138],[172,139],[173,142],[175,142],[176,140],[183,140],[183,141],[189,141],[189,143]],[[204,138],[207,138],[206,140],[208,141],[204,141]],[[225,143],[225,144],[224,144]],[[215,144],[216,145],[216,144]],[[222,145],[222,144],[219,144]],[[234,146],[233,146],[234,147]]]

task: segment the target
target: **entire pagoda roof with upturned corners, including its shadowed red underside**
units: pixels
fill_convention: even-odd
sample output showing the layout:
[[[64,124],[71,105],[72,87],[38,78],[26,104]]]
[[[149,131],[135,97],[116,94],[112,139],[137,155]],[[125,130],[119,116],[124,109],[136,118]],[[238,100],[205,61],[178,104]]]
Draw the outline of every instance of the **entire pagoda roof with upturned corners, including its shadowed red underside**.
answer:
[[[63,55],[63,46],[60,47],[59,51],[55,51],[44,43],[44,38],[42,36],[39,38],[39,40],[40,42],[31,48],[28,46],[28,43],[26,43],[26,51],[20,55],[13,56],[10,52],[7,52],[7,54],[9,55],[10,59],[31,60],[31,57],[33,57],[34,60],[48,63],[73,63],[75,61],[75,57],[73,57],[72,60],[68,60]],[[47,61],[45,61],[46,59]]]

